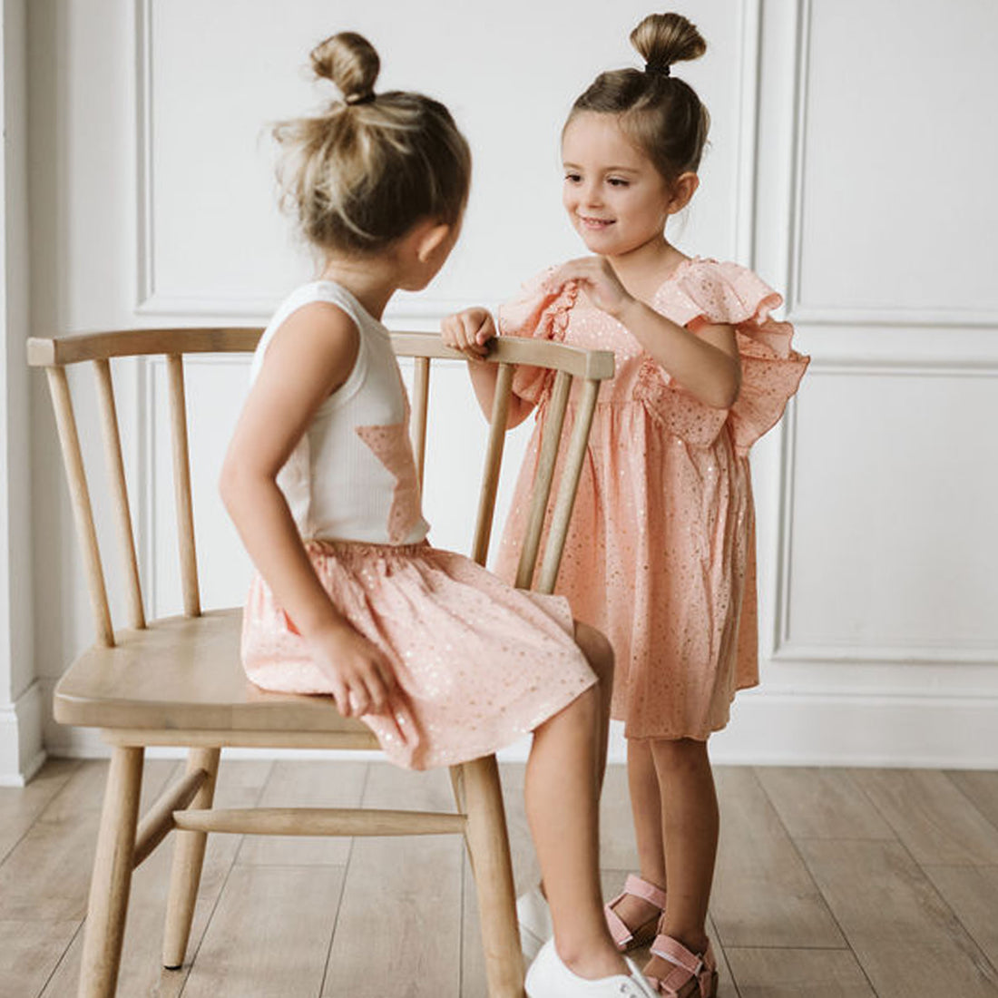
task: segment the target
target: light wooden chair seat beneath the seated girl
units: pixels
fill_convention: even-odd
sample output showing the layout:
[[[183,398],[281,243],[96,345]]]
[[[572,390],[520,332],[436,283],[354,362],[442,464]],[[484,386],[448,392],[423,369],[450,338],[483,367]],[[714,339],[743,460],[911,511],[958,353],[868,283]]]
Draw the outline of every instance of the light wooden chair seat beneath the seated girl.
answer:
[[[55,718],[84,728],[370,736],[342,718],[331,697],[266,693],[240,661],[242,609],[169,617],[117,632],[115,648],[91,648],[55,691]]]

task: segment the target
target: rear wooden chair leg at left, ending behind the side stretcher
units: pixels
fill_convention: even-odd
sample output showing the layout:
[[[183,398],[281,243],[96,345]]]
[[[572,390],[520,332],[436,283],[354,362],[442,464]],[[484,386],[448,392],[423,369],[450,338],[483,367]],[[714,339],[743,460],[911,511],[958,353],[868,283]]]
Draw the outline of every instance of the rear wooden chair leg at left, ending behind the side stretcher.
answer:
[[[187,771],[204,769],[208,779],[191,801],[196,810],[212,806],[215,783],[219,774],[222,749],[191,749],[188,753]],[[170,900],[167,903],[167,926],[163,939],[163,966],[175,970],[183,966],[194,921],[194,906],[201,883],[201,868],[205,862],[208,832],[175,831],[174,864],[170,876]]]

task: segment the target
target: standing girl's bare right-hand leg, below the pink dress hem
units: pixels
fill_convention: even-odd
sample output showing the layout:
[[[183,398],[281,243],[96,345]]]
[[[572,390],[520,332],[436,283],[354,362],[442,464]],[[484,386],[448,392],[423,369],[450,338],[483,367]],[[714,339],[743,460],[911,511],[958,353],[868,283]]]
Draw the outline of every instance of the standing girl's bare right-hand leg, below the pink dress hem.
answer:
[[[652,756],[659,774],[669,894],[660,931],[687,949],[707,946],[707,906],[718,856],[718,795],[707,743],[656,740]],[[653,957],[646,968],[660,976],[670,965]]]

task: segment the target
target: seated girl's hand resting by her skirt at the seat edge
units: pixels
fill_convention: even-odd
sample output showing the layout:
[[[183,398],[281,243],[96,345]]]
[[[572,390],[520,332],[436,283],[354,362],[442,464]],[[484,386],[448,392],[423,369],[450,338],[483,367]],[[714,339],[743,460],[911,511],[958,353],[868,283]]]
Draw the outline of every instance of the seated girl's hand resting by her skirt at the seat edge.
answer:
[[[384,714],[397,686],[395,671],[362,634],[345,621],[308,639],[312,659],[332,684],[336,710],[344,718]]]

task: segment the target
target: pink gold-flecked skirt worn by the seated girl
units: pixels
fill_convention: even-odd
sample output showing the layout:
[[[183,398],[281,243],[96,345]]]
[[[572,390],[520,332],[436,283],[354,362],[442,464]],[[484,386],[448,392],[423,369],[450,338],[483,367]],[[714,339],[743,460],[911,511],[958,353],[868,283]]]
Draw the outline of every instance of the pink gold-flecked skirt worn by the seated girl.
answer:
[[[399,765],[453,765],[501,749],[596,682],[564,597],[513,589],[463,555],[427,544],[310,541],[306,548],[336,609],[395,670],[392,710],[361,720]],[[244,615],[243,664],[264,690],[330,691],[258,575]]]

